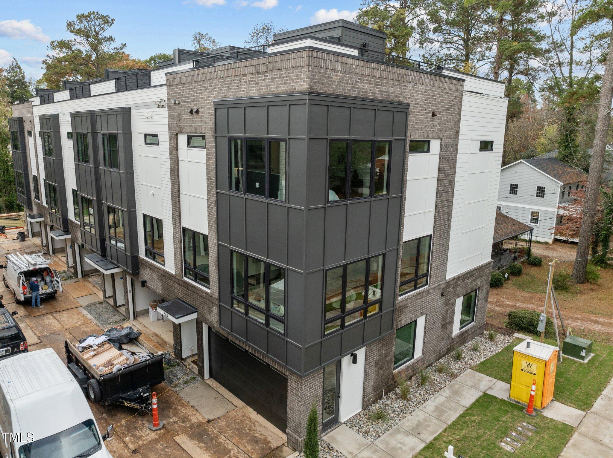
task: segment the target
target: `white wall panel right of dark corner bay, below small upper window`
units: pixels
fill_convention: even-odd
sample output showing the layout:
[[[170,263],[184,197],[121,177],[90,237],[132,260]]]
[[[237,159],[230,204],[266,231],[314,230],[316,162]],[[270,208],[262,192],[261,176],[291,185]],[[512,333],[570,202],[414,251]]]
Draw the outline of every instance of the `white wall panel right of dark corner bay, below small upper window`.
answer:
[[[404,242],[432,234],[440,149],[440,139],[432,139],[429,153],[409,153]]]

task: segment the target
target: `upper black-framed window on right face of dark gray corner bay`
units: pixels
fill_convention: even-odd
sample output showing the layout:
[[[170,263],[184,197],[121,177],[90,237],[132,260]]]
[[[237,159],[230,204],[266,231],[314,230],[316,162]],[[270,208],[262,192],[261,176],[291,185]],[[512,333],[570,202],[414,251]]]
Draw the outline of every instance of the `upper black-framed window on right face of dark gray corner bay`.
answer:
[[[391,141],[331,140],[328,202],[389,194]]]

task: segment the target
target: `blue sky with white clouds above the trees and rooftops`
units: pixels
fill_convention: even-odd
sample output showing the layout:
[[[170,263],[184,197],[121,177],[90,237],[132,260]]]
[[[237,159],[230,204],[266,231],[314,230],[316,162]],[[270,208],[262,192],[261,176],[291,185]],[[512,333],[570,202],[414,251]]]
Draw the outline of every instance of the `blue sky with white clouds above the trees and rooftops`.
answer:
[[[242,46],[254,24],[272,20],[296,29],[338,18],[351,19],[360,0],[0,0],[0,67],[11,57],[33,78],[50,40],[68,38],[66,21],[98,10],[115,18],[109,33],[126,43],[131,56],[189,48],[194,32],[205,32],[223,45]]]

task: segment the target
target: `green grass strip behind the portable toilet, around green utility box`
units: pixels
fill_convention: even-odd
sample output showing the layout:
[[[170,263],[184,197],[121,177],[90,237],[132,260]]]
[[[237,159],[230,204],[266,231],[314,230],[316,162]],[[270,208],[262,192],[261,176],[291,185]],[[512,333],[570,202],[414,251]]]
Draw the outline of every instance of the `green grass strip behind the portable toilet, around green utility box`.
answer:
[[[521,339],[515,339],[503,350],[481,361],[473,369],[494,379],[511,383],[513,347],[519,342]],[[547,339],[546,343],[556,344],[555,341]],[[558,364],[554,388],[556,401],[584,412],[592,408],[613,376],[613,347],[594,342],[592,352],[595,353],[594,356],[585,364],[568,358],[564,358],[563,363]]]

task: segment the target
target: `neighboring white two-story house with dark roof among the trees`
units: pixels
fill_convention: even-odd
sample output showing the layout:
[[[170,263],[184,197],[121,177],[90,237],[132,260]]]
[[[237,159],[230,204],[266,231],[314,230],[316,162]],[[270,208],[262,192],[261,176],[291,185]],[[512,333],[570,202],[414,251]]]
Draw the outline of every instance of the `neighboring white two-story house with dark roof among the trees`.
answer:
[[[498,210],[534,227],[533,240],[552,243],[560,205],[572,202],[585,180],[584,171],[556,158],[519,160],[500,171]]]

